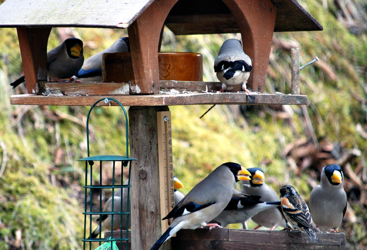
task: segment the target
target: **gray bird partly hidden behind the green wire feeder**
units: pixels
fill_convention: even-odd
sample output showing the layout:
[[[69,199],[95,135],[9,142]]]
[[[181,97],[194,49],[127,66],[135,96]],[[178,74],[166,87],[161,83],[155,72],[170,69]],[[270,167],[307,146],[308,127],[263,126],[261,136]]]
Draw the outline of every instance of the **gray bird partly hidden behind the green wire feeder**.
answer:
[[[126,183],[125,183],[126,184]],[[127,188],[122,188],[122,210],[121,210],[121,188],[118,188],[114,195],[114,212],[121,212],[127,211]],[[108,201],[105,204],[105,207],[103,208],[103,212],[111,212],[112,211],[112,197],[108,199]],[[122,218],[121,218],[122,217]],[[121,228],[126,230],[127,226],[127,215],[114,215],[114,226],[113,230],[117,228]],[[112,215],[111,214],[103,214],[101,216],[101,232],[104,230],[111,230],[112,226]],[[99,223],[99,218],[96,220],[97,223]],[[129,227],[131,227],[131,218],[129,220]],[[91,238],[96,238],[99,234],[99,225],[98,227],[92,232]]]

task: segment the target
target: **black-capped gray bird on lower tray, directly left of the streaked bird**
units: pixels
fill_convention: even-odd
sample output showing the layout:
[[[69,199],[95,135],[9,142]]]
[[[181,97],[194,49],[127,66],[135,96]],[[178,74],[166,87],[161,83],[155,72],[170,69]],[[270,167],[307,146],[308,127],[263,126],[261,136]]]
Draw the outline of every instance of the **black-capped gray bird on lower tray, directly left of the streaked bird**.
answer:
[[[261,201],[264,202],[275,202],[279,201],[278,195],[275,191],[265,183],[264,173],[261,168],[253,167],[247,169],[251,173],[250,181],[242,182],[241,193],[249,195],[261,196]],[[280,207],[274,207],[269,210],[259,212],[252,217],[258,227],[269,227],[270,230],[274,230],[275,227],[288,227],[287,222]],[[244,228],[247,228],[246,222],[244,223]]]

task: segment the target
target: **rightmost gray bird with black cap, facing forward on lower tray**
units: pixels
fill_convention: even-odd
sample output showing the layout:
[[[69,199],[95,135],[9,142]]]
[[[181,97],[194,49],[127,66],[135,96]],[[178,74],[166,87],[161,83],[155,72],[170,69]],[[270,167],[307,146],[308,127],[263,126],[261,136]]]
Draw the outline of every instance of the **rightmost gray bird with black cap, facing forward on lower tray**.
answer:
[[[322,168],[320,184],[311,191],[310,212],[321,231],[338,232],[346,211],[343,172],[339,165]]]

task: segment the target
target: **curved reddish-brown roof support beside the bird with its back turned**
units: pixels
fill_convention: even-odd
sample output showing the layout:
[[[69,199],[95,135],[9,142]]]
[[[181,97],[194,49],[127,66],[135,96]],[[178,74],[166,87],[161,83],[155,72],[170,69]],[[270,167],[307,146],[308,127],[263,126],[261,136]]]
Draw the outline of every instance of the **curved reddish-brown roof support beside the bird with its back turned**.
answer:
[[[247,89],[264,92],[270,49],[275,27],[276,7],[269,0],[223,0],[237,21],[242,45],[252,60]]]

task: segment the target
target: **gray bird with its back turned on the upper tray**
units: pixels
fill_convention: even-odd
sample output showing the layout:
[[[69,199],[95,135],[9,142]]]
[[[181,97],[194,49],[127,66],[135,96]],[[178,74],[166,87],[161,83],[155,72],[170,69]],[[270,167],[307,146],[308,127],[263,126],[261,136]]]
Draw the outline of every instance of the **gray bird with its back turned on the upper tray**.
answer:
[[[227,85],[242,84],[242,90],[250,93],[246,83],[251,70],[251,58],[243,52],[241,41],[237,39],[225,41],[214,61],[214,72],[222,83],[221,91],[224,91]]]

